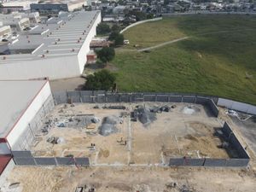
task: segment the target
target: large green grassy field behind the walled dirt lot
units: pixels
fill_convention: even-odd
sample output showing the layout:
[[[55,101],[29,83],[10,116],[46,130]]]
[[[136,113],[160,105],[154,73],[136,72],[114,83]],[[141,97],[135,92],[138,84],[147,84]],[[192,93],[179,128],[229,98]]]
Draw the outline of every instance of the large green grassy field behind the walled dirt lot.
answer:
[[[189,37],[149,53],[141,48]],[[224,96],[256,104],[256,17],[178,16],[134,26],[130,45],[113,61],[124,91],[171,91]]]

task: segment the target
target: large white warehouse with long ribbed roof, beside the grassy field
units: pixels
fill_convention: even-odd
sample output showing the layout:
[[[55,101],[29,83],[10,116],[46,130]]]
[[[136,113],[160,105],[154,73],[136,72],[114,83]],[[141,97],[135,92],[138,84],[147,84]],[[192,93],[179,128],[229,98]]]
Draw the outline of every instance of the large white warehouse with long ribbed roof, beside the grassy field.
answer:
[[[3,26],[13,33],[0,42],[0,79],[78,77],[100,22],[99,11],[62,12],[49,19],[37,14],[6,17]]]

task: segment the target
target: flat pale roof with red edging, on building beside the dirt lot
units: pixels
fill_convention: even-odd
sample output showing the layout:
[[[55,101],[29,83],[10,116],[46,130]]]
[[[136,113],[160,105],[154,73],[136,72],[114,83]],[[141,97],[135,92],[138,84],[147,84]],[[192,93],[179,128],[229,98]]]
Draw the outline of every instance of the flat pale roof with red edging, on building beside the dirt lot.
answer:
[[[0,81],[0,137],[6,137],[48,80]]]

